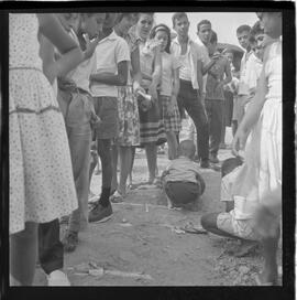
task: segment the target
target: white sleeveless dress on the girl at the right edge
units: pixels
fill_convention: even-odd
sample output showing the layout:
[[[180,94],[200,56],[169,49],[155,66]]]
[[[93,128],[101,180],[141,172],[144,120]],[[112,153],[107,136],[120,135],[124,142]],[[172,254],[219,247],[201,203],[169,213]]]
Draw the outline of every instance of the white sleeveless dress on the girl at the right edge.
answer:
[[[232,191],[233,195],[251,203],[258,203],[266,193],[282,188],[282,41],[271,45],[264,72],[267,79],[266,100],[251,133],[245,163],[238,173]],[[246,215],[250,215],[249,207]]]

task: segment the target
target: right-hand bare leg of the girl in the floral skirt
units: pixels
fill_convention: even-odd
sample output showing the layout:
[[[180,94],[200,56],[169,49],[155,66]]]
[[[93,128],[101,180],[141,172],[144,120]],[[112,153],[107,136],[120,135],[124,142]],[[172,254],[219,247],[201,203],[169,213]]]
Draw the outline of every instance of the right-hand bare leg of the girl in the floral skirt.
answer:
[[[131,168],[132,161],[132,148],[131,147],[119,147],[120,150],[120,184],[118,191],[121,195],[125,195],[127,179]]]

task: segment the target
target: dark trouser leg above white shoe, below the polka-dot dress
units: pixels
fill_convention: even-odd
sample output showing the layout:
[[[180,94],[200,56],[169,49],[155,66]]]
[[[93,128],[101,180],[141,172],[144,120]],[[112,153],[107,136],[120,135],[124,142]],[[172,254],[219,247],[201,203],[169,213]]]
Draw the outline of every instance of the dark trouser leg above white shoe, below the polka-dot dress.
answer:
[[[63,268],[64,254],[58,218],[38,225],[38,257],[41,267],[47,275]]]

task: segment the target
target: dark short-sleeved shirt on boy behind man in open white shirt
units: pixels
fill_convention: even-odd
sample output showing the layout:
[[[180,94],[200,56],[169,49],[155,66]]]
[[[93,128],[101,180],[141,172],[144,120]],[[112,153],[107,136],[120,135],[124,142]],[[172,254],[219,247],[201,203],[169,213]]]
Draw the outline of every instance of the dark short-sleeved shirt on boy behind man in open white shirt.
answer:
[[[227,64],[229,64],[229,61],[226,57],[221,57],[215,63],[210,71],[211,73],[216,74],[220,81],[222,81]],[[224,99],[223,87],[222,86],[218,87],[218,81],[211,74],[207,76],[206,99],[210,100]]]

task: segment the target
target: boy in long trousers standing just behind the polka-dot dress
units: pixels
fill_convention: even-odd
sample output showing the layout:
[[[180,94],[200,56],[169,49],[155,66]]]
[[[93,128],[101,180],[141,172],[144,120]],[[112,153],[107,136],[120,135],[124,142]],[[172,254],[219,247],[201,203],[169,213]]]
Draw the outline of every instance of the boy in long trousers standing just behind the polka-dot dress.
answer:
[[[74,251],[78,244],[78,233],[88,225],[88,191],[92,120],[99,120],[95,114],[94,99],[89,90],[89,76],[96,63],[94,51],[98,43],[98,34],[102,30],[105,14],[82,13],[58,15],[69,35],[85,46],[85,60],[67,74],[67,82],[59,81],[58,100],[65,114],[74,179],[78,199],[78,210],[69,217],[68,229],[63,239],[64,250]],[[88,34],[82,41],[82,32]],[[80,40],[79,40],[80,39]]]

